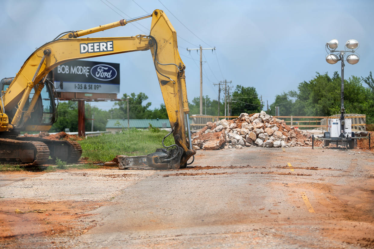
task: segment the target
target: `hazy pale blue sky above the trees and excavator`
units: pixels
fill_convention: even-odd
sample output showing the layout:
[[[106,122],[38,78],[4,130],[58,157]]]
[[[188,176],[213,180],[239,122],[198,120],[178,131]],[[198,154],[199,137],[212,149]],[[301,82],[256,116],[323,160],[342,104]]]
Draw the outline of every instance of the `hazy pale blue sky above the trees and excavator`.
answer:
[[[311,80],[316,72],[340,74],[340,63],[330,65],[325,61],[325,44],[333,38],[339,41],[339,50],[349,39],[360,44],[360,61],[356,65],[346,63],[346,78],[367,77],[374,71],[372,0],[1,0],[1,78],[14,77],[37,47],[61,32],[134,18],[155,9],[164,10],[180,37],[178,49],[186,65],[190,102],[200,96],[199,54],[186,49],[199,45],[216,47],[214,52],[203,51],[204,96],[218,99],[218,86],[213,84],[226,79],[232,81],[233,87],[255,87],[262,95],[265,110],[267,100],[270,105],[276,94],[296,90],[300,82]],[[150,23],[147,18],[90,37],[149,34]],[[87,60],[120,63],[118,97],[143,92],[147,102],[152,103],[151,109],[163,103],[150,51]],[[114,102],[93,105],[110,109]]]

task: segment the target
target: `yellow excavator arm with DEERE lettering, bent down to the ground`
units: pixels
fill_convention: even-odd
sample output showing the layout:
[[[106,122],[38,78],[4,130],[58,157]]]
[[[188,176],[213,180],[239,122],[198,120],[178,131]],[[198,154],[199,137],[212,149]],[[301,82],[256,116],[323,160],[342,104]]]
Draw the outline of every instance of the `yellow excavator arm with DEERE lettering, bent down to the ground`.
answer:
[[[82,35],[123,26],[128,22],[147,17],[152,17],[150,35],[80,38]],[[151,51],[175,140],[173,146],[160,149],[158,153],[156,152],[157,155],[150,156],[148,161],[152,160],[154,164],[162,165],[159,167],[156,165],[155,168],[163,168],[166,165],[169,168],[185,167],[188,159],[196,153],[192,150],[191,142],[187,143],[186,138],[185,122],[187,120],[188,123],[189,108],[184,74],[185,65],[178,53],[175,29],[162,10],[154,10],[152,14],[140,18],[120,20],[92,29],[71,32],[41,46],[28,57],[12,83],[2,94],[1,111],[3,113],[0,116],[0,131],[24,128],[27,120],[33,115],[37,99],[45,86],[47,74],[56,66],[70,60],[144,50]],[[35,93],[25,109],[33,89]],[[14,115],[6,115],[15,108],[17,110]],[[187,128],[189,129],[189,125]],[[190,136],[190,131],[188,131],[188,136]],[[178,162],[176,158],[180,158]]]

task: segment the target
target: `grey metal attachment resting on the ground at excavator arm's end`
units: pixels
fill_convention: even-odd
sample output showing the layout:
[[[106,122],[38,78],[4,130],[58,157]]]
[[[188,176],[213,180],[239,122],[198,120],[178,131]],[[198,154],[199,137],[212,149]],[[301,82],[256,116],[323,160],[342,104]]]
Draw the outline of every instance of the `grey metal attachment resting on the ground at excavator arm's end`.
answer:
[[[132,167],[148,166],[155,169],[178,169],[183,149],[174,146],[172,149],[156,149],[156,152],[146,156],[126,156],[120,155],[118,158],[118,168],[128,169]]]

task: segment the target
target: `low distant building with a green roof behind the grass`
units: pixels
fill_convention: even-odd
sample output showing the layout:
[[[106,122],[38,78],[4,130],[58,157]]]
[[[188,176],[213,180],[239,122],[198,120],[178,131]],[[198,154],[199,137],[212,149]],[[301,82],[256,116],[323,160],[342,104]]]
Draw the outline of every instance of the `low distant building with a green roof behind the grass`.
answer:
[[[130,119],[129,124],[130,128],[137,129],[147,129],[149,124],[157,128],[171,128],[169,119]],[[108,119],[105,130],[115,134],[127,127],[127,119]]]

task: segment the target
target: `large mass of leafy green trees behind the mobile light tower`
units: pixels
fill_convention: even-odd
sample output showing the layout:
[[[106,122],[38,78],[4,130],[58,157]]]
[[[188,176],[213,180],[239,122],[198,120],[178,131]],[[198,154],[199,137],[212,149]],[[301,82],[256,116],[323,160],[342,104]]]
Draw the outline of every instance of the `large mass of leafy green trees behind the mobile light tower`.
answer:
[[[364,78],[371,83],[371,74]],[[367,83],[368,84],[368,83]],[[370,84],[368,84],[370,86]],[[341,77],[334,72],[333,77],[316,73],[309,82],[301,82],[297,91],[289,91],[276,96],[272,108],[281,106],[282,115],[290,116],[331,116],[340,113]],[[294,102],[291,99],[295,99]],[[286,106],[282,108],[282,103]],[[359,77],[352,76],[344,80],[344,108],[346,113],[367,115],[367,123],[374,121],[374,92],[362,85]]]

